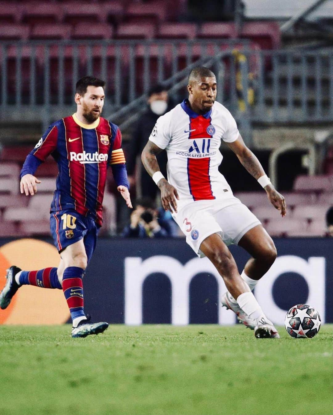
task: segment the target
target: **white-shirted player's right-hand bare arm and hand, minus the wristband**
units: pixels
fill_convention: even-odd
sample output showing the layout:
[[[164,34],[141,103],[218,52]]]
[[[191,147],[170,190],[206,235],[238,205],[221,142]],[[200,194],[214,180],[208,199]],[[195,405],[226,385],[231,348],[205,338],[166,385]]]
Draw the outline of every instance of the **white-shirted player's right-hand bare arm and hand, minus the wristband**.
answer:
[[[255,179],[258,180],[260,177],[265,176],[265,171],[262,168],[260,161],[244,144],[244,141],[240,135],[236,141],[227,144],[236,154],[242,165]],[[286,216],[286,200],[281,193],[279,193],[271,183],[266,184],[264,189],[266,190],[268,200],[271,204],[280,211],[282,217]]]

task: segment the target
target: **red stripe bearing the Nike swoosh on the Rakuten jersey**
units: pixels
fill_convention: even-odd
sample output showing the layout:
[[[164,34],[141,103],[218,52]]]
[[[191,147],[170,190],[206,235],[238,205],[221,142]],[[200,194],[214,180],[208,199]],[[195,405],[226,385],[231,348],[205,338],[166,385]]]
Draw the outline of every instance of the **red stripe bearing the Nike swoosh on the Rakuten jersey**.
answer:
[[[82,130],[72,117],[64,118],[66,127],[66,146],[69,158],[69,176],[71,178],[71,196],[75,200],[75,210],[86,215],[85,168],[79,161],[71,161],[71,153],[83,153]],[[79,139],[77,139],[79,138]]]

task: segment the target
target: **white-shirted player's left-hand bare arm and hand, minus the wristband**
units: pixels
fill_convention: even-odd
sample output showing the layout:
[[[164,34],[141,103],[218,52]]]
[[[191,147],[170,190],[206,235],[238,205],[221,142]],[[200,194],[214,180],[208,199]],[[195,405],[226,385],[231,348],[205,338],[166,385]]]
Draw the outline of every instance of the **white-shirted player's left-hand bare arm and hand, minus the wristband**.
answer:
[[[143,166],[145,166],[147,172],[153,177],[153,174],[157,171],[160,171],[160,166],[158,166],[158,162],[156,159],[157,154],[159,154],[162,149],[158,147],[156,144],[148,140],[145,148],[141,154],[141,160]],[[177,190],[168,183],[168,181],[162,177],[156,183],[158,188],[161,191],[161,202],[164,210],[170,210],[170,212],[177,212],[177,201],[179,200],[179,196]]]

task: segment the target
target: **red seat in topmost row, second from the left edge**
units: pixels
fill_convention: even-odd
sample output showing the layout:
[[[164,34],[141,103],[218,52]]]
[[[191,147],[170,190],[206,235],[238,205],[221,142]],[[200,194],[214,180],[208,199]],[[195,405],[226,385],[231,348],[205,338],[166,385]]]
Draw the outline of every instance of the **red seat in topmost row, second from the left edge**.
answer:
[[[28,24],[57,24],[63,20],[62,8],[55,3],[27,3],[23,8],[22,22]]]

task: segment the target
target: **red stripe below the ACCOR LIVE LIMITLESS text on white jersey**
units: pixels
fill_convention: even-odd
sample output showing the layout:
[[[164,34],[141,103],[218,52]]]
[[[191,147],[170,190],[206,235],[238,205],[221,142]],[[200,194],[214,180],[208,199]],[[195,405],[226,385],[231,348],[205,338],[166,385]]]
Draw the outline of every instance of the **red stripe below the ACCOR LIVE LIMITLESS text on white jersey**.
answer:
[[[188,186],[193,200],[215,199],[209,176],[210,158],[187,159]]]

